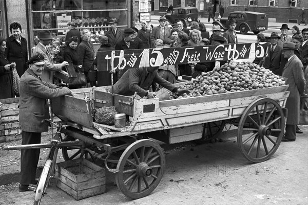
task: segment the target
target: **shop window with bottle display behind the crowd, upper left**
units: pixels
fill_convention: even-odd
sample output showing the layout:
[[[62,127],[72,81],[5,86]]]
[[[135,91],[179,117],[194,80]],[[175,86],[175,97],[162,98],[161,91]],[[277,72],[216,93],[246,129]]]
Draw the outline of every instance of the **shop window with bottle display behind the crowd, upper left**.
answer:
[[[119,27],[128,27],[126,0],[32,0],[34,36],[40,30],[50,30],[54,36],[65,35],[67,23],[73,21],[79,30],[104,33],[110,18],[119,21]]]

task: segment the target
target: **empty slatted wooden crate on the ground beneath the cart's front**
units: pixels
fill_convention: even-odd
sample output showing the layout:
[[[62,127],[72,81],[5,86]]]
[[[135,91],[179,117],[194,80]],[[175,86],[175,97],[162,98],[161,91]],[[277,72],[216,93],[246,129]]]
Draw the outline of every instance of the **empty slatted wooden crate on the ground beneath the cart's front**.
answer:
[[[76,200],[106,192],[105,169],[84,158],[57,163],[55,176],[56,186]]]

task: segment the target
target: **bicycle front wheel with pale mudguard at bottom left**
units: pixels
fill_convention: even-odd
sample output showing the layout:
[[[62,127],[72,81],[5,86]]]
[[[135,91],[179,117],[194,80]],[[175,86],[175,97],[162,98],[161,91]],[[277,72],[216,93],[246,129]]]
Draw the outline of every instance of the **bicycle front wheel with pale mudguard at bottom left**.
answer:
[[[38,179],[38,183],[37,183],[36,190],[35,190],[35,197],[34,197],[34,203],[33,203],[34,205],[40,204],[44,193],[46,193],[46,189],[48,187],[50,175],[51,175],[51,165],[52,165],[52,161],[47,160],[44,165],[40,179]]]

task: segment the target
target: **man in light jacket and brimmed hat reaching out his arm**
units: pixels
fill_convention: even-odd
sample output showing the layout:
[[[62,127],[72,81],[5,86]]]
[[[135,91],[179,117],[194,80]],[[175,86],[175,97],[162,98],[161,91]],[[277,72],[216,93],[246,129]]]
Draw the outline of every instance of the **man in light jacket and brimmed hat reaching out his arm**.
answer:
[[[40,39],[40,42],[38,42],[34,48],[32,56],[39,54],[44,57],[45,67],[41,78],[45,82],[53,83],[53,71],[62,71],[62,67],[69,64],[67,61],[63,61],[62,63],[53,63],[51,54],[46,47],[52,42],[52,36],[49,31],[40,31],[40,33],[38,33],[38,39]]]

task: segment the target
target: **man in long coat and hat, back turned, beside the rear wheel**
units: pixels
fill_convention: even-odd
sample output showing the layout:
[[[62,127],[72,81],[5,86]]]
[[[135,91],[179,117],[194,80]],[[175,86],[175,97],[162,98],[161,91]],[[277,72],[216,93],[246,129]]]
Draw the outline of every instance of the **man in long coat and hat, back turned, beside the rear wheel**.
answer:
[[[290,91],[285,104],[287,108],[287,118],[285,133],[282,142],[292,142],[296,140],[296,125],[299,123],[300,96],[304,94],[305,78],[303,64],[300,59],[294,55],[296,50],[295,43],[283,43],[282,55],[287,62],[283,67],[282,77],[287,78],[287,90]]]

